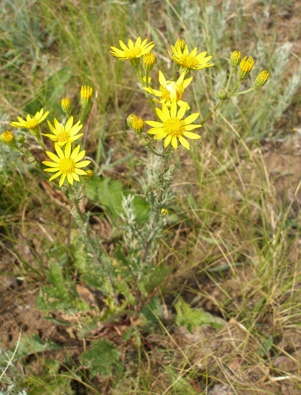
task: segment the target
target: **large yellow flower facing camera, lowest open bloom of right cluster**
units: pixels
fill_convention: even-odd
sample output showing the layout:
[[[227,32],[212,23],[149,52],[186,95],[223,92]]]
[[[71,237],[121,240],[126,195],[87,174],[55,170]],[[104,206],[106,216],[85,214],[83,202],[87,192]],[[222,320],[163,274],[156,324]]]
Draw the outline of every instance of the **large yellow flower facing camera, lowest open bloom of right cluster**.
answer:
[[[164,146],[171,142],[172,147],[176,150],[178,148],[178,141],[182,144],[183,147],[190,150],[189,143],[187,140],[184,139],[183,136],[189,139],[199,139],[201,138],[198,134],[190,132],[189,130],[196,129],[197,127],[201,127],[201,125],[192,125],[191,122],[195,121],[199,117],[199,113],[191,114],[186,119],[182,119],[186,112],[186,103],[183,103],[182,106],[179,108],[177,114],[177,104],[175,101],[172,102],[170,108],[170,114],[167,106],[162,103],[162,110],[156,108],[156,113],[158,117],[162,120],[161,122],[157,122],[154,120],[146,120],[150,126],[153,126],[151,129],[148,130],[147,133],[150,134],[157,134],[155,136],[155,140],[163,139],[166,137]]]

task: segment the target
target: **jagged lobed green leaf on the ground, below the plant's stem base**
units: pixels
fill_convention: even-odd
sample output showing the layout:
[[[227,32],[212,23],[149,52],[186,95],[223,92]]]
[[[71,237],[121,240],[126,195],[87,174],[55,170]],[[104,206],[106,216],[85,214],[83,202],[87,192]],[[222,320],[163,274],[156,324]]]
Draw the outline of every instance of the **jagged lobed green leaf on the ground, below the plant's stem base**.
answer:
[[[102,373],[106,378],[114,374],[121,374],[123,365],[120,351],[107,339],[100,339],[93,343],[90,350],[85,351],[80,357],[83,366],[90,370],[91,377]]]

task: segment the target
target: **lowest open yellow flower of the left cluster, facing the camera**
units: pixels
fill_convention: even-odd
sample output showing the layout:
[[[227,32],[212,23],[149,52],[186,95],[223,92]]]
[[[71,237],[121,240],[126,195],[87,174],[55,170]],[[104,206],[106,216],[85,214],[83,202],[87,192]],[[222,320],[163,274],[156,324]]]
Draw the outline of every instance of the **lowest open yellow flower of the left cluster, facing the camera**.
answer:
[[[62,149],[55,144],[54,148],[58,154],[58,157],[52,152],[46,151],[48,157],[54,162],[50,162],[48,160],[43,161],[46,166],[50,166],[50,168],[44,169],[44,171],[49,172],[57,172],[52,177],[49,178],[49,181],[54,180],[62,174],[60,179],[59,186],[61,187],[64,184],[65,178],[67,176],[67,180],[69,184],[73,184],[73,180],[79,181],[78,175],[87,174],[86,171],[79,169],[79,167],[88,166],[91,163],[91,160],[83,160],[80,162],[82,158],[84,158],[86,151],[80,150],[80,145],[78,145],[71,154],[71,143],[67,142],[65,146],[65,153],[63,153]]]

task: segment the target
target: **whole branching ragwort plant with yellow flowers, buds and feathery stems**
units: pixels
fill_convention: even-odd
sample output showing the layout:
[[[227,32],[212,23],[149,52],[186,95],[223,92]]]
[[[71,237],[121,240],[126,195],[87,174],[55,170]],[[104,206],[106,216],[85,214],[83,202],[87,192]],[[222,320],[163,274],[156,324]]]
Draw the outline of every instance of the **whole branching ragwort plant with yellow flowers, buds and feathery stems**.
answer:
[[[174,151],[182,147],[189,151],[190,142],[187,139],[200,139],[198,129],[218,108],[226,104],[234,95],[246,94],[262,87],[269,75],[268,71],[264,70],[255,79],[253,87],[237,92],[241,82],[250,74],[254,60],[247,56],[241,60],[240,51],[234,51],[230,57],[231,71],[226,86],[217,93],[216,105],[203,119],[198,120],[200,114],[189,114],[190,105],[183,98],[185,98],[185,90],[193,80],[191,73],[213,67],[214,64],[209,63],[212,56],[206,56],[206,51],[198,53],[197,48],[189,51],[185,41],[178,39],[174,46],[171,46],[172,52],[167,50],[173,61],[171,78],[160,70],[159,83],[153,79],[155,82],[152,82],[151,86],[149,74],[154,67],[155,54],[151,52],[154,47],[153,41],[147,41],[147,39],[142,41],[138,37],[135,43],[129,40],[126,45],[120,40],[121,49],[112,46],[110,51],[120,60],[129,61],[135,69],[155,119],[144,121],[138,115],[131,114],[127,122],[137,137],[138,145],[145,147],[150,155],[161,161],[159,166],[149,169],[153,177],[153,185],[150,190],[143,193],[150,209],[147,220],[139,222],[136,219],[133,208],[134,196],[130,194],[123,196],[123,213],[120,213],[120,216],[125,224],[124,233],[122,241],[115,245],[114,255],[104,253],[100,237],[93,234],[89,224],[90,212],[83,213],[79,204],[89,182],[94,178],[93,171],[87,167],[91,161],[84,159],[86,151],[81,150],[81,146],[77,144],[77,140],[84,135],[82,121],[89,108],[93,94],[92,87],[83,86],[81,89],[82,111],[76,121],[75,116],[71,115],[70,100],[67,97],[62,99],[62,109],[66,113],[67,121],[64,125],[57,118],[54,118],[53,122],[47,120],[51,133],[41,133],[40,124],[47,117],[49,118],[49,111],[44,112],[43,109],[34,117],[30,115],[27,115],[26,119],[18,117],[18,121],[10,123],[15,128],[28,129],[36,138],[45,152],[45,159],[46,155],[51,159],[42,161],[46,168],[34,158],[24,134],[15,138],[11,131],[6,130],[0,136],[2,143],[28,158],[43,177],[45,172],[53,173],[49,181],[55,182],[58,188],[66,192],[72,203],[71,214],[80,230],[77,244],[82,243],[84,246],[87,269],[81,273],[82,278],[89,285],[101,289],[107,296],[105,303],[113,312],[122,311],[126,307],[139,310],[149,291],[162,282],[169,272],[166,267],[158,267],[155,258],[158,240],[163,236],[166,225],[168,208],[176,198],[170,188],[175,173],[180,167],[180,163],[173,157]],[[233,81],[236,70],[236,80]],[[231,85],[233,86],[230,89]],[[195,121],[198,123],[194,123]],[[150,126],[148,130],[145,130],[145,124]],[[46,151],[42,136],[54,144],[52,151]],[[85,148],[86,137],[84,136],[83,148]],[[161,140],[161,144],[158,145],[157,140]],[[54,283],[53,285],[55,286]],[[119,294],[124,297],[119,298]]]

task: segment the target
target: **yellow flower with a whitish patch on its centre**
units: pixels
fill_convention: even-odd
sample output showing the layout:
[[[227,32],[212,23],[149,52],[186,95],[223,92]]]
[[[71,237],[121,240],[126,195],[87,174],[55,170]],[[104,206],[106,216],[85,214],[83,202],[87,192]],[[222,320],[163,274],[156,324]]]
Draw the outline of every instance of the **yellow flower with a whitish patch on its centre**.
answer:
[[[147,92],[152,93],[155,96],[161,97],[161,100],[153,99],[154,102],[156,103],[165,103],[167,107],[171,106],[172,101],[176,101],[179,106],[181,106],[183,103],[181,99],[182,94],[184,92],[184,89],[187,88],[187,86],[190,84],[192,81],[192,77],[184,79],[185,77],[185,72],[183,72],[180,77],[174,82],[170,80],[166,80],[164,77],[163,73],[159,71],[159,82],[161,84],[160,90],[156,90],[148,86],[147,88],[143,87],[144,90]],[[189,106],[187,103],[186,104],[186,110],[189,110]]]

